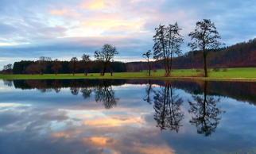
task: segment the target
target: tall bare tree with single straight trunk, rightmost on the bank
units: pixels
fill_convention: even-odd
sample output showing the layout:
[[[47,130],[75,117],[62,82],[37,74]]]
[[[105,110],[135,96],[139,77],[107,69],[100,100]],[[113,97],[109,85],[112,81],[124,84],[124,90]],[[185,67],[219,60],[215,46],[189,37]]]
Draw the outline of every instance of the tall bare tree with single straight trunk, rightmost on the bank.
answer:
[[[204,76],[208,77],[207,56],[208,51],[219,48],[222,43],[219,42],[221,38],[215,27],[215,24],[210,19],[203,19],[203,21],[196,22],[196,29],[188,34],[192,42],[188,46],[192,50],[200,50],[204,55]]]

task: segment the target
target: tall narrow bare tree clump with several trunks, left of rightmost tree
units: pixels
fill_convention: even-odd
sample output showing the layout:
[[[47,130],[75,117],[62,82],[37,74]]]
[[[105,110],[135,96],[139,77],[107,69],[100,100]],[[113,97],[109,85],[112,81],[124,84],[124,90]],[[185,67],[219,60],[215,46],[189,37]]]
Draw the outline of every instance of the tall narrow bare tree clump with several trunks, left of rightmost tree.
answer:
[[[174,25],[159,25],[153,36],[153,58],[161,60],[165,66],[165,76],[169,76],[172,71],[173,56],[180,55],[180,44],[183,38],[180,35],[180,28],[177,23]]]

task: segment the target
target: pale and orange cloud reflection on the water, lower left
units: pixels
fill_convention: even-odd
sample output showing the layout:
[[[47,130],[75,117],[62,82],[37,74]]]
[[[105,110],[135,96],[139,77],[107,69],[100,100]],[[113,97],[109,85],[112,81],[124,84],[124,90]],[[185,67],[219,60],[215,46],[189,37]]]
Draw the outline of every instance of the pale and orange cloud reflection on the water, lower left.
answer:
[[[62,110],[24,104],[2,104],[0,108],[6,110],[0,113],[0,140],[7,137],[5,144],[13,144],[21,153],[28,152],[27,149],[33,153],[173,152],[167,144],[148,143],[149,138],[157,138],[155,128],[145,127],[144,117],[140,113],[130,114],[132,110],[121,115],[117,110],[116,114],[108,115],[101,110]],[[25,142],[15,141],[17,136]],[[12,153],[11,148],[5,150]]]

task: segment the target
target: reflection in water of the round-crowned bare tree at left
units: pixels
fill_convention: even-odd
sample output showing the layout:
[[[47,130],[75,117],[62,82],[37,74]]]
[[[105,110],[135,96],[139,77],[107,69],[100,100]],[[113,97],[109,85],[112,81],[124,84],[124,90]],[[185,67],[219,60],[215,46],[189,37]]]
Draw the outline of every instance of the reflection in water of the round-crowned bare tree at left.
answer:
[[[111,84],[103,81],[103,83],[96,87],[95,101],[103,102],[106,109],[111,109],[112,107],[116,106],[118,98],[114,97],[114,90],[112,89]]]

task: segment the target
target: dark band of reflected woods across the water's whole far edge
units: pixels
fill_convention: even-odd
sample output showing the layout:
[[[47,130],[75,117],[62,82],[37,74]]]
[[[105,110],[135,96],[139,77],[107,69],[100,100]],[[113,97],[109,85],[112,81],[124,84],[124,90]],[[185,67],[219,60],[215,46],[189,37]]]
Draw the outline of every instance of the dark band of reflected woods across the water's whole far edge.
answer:
[[[147,84],[148,80],[109,79],[110,85],[118,86],[125,83]],[[5,82],[7,85],[7,82]],[[70,87],[95,87],[101,83],[99,79],[47,79],[47,80],[14,80],[14,87],[20,89],[54,89]],[[165,86],[162,80],[150,80],[151,84]],[[190,94],[202,94],[204,82],[172,81],[172,87],[185,90]],[[9,85],[11,83],[8,83]],[[46,90],[45,90],[46,91]],[[256,84],[241,82],[209,82],[208,94],[227,96],[240,101],[247,101],[256,105]]]

